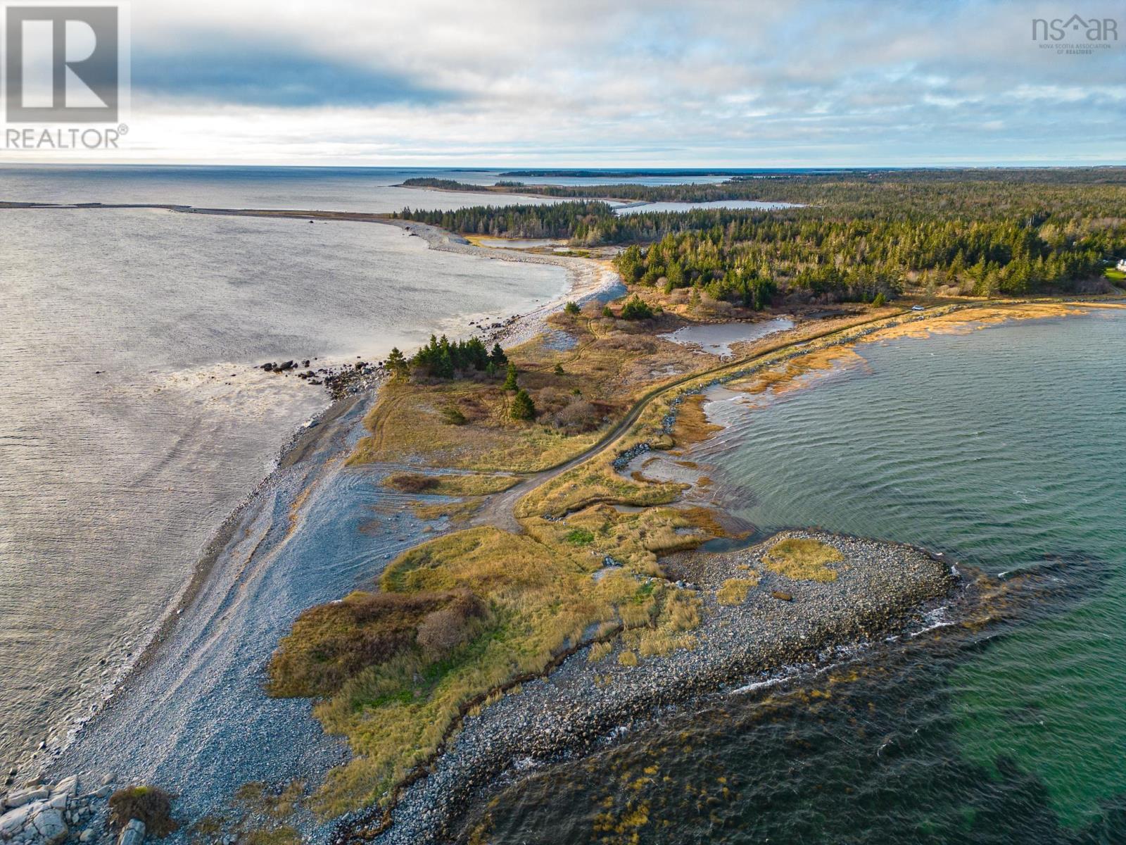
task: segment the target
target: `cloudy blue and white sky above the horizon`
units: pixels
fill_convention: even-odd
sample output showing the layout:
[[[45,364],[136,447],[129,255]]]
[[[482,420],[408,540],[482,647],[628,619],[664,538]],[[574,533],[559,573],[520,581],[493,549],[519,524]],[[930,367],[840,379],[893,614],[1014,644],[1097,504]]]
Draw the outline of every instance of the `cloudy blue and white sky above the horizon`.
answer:
[[[1033,39],[1073,14],[1121,41]],[[123,149],[3,161],[1126,162],[1120,2],[133,0],[129,19]]]

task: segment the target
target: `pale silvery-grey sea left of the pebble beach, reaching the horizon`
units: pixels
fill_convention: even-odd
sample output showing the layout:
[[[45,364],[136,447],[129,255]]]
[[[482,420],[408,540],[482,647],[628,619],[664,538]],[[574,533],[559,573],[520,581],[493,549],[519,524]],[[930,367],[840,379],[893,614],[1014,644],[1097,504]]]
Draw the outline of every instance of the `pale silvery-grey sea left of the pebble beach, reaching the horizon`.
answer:
[[[0,170],[0,194],[363,208],[378,190],[279,169],[29,170]],[[437,252],[378,224],[0,211],[5,771],[89,712],[207,539],[327,407],[323,388],[256,365],[373,359],[565,287],[560,267]]]

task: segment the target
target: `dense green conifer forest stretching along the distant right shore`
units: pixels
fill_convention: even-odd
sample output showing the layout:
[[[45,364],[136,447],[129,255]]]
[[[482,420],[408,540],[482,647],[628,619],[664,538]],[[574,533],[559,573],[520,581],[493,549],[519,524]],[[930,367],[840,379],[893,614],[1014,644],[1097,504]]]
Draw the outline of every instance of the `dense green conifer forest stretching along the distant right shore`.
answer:
[[[706,190],[723,193],[712,199],[803,207],[618,215],[608,203],[586,201],[404,210],[400,216],[465,233],[629,244],[617,258],[627,282],[665,290],[696,286],[754,308],[779,295],[867,301],[905,288],[978,295],[1066,290],[1100,277],[1108,261],[1126,256],[1121,168],[785,175],[703,186],[520,186],[618,196],[626,188],[652,201]]]

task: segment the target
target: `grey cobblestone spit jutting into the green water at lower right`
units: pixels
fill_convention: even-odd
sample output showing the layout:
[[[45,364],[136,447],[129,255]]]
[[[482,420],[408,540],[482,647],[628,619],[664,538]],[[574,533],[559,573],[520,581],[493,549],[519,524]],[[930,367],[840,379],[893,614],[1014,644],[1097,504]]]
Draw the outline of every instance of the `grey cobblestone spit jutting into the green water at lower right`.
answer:
[[[840,550],[837,577],[792,580],[767,569],[765,552],[786,537],[813,539]],[[464,839],[466,813],[506,776],[605,748],[668,708],[784,667],[833,662],[912,626],[947,602],[959,579],[948,563],[921,550],[812,531],[787,531],[749,549],[690,552],[663,562],[678,586],[703,602],[697,646],[623,665],[617,643],[590,661],[580,648],[545,678],[524,683],[479,715],[467,715],[445,753],[406,786],[390,815],[347,817],[333,840],[381,845]],[[739,605],[716,598],[732,578],[758,578]]]

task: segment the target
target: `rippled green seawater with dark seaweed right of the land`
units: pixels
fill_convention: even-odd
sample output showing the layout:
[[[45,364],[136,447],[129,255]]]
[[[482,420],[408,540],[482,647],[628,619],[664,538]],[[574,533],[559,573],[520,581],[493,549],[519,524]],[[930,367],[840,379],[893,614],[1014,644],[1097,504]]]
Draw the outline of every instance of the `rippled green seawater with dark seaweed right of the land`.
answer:
[[[984,626],[663,717],[482,808],[492,843],[1126,842],[1126,312],[858,347],[696,450],[783,526],[1008,573]],[[1013,579],[1013,573],[1024,572]]]

